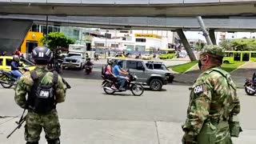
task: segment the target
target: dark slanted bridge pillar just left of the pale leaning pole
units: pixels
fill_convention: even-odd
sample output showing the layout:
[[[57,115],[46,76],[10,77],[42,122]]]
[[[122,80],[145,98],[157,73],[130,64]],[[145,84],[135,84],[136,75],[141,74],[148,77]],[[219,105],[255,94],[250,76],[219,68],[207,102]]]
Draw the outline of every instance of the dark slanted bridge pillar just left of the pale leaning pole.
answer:
[[[197,58],[194,56],[193,50],[190,47],[190,43],[187,41],[185,34],[182,29],[176,30],[178,37],[181,38],[182,44],[185,47],[186,53],[189,55],[191,61],[196,61]]]

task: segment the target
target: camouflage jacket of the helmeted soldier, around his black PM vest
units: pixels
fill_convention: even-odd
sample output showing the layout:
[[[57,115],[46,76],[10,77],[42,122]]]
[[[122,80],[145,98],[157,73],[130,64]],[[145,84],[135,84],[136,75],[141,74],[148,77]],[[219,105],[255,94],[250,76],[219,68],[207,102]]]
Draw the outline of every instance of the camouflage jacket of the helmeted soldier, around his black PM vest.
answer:
[[[47,70],[46,66],[36,66],[34,69],[38,74],[38,77],[43,73],[44,70]],[[42,84],[51,84],[54,74],[47,72],[47,74],[42,78]],[[15,102],[18,106],[22,108],[26,107],[26,94],[30,92],[30,88],[33,86],[33,79],[30,77],[30,72],[23,74],[15,87]],[[56,102],[64,102],[66,98],[66,85],[62,82],[62,78],[58,75],[58,83],[56,90]]]

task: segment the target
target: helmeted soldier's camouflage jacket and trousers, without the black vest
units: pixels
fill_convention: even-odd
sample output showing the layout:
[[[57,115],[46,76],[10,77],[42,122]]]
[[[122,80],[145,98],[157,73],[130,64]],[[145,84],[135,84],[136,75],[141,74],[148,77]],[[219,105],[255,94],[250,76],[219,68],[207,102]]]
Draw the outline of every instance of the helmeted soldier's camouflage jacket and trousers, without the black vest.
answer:
[[[35,71],[38,77],[46,69],[46,66],[36,66]],[[53,79],[53,73],[47,72],[42,78],[42,84],[51,84]],[[18,80],[18,84],[15,88],[15,102],[18,106],[26,108],[26,94],[30,91],[33,86],[33,79],[30,77],[30,73],[26,72]],[[62,78],[58,76],[58,84],[56,90],[56,102],[64,102],[66,97],[66,85],[62,82]],[[38,142],[40,134],[44,128],[46,139],[48,143],[50,140],[59,138],[61,134],[60,124],[58,122],[57,110],[51,110],[49,114],[36,114],[32,110],[28,110],[26,115],[26,126],[25,126],[25,139],[27,142]]]

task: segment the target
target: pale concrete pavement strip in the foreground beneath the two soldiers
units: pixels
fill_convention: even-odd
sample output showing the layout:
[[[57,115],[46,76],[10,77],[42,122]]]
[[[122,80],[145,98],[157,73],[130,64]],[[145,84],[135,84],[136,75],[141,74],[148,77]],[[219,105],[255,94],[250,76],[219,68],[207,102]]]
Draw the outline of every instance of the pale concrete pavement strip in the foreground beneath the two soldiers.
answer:
[[[0,119],[0,143],[22,144],[24,128],[21,127],[9,139],[6,136],[14,129],[18,118]],[[62,144],[182,144],[182,123],[110,121],[90,119],[60,119]],[[243,129],[234,144],[255,144],[256,130]],[[40,144],[45,144],[42,132]]]

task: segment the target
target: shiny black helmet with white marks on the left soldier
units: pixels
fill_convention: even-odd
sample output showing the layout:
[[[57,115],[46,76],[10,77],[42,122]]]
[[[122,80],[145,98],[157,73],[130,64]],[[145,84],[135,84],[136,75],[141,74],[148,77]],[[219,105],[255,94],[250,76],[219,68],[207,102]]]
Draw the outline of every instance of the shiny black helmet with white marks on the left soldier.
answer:
[[[38,64],[47,64],[50,62],[52,52],[45,46],[38,46],[32,50],[32,58]]]

